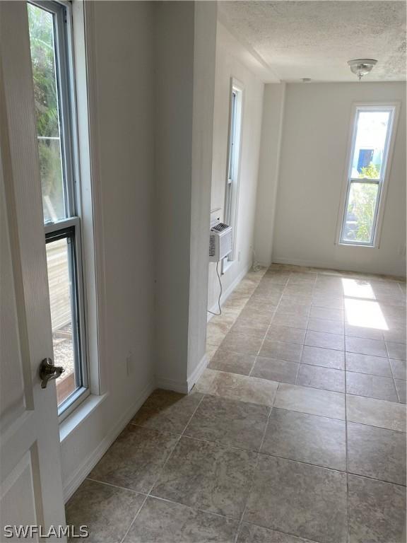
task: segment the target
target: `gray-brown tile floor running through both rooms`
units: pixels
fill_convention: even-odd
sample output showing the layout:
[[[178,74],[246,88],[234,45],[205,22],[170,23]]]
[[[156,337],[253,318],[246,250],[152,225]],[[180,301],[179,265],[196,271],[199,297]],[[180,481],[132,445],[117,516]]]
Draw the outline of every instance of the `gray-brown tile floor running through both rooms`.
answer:
[[[153,392],[67,522],[102,543],[406,542],[405,310],[396,279],[250,272],[194,390]]]

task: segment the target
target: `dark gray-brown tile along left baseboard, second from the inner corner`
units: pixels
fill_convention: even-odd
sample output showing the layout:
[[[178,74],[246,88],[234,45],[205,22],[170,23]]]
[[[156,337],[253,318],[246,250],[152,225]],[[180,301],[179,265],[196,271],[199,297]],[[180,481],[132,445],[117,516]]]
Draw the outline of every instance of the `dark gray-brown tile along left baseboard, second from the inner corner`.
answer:
[[[90,472],[90,479],[146,493],[178,436],[129,424]]]

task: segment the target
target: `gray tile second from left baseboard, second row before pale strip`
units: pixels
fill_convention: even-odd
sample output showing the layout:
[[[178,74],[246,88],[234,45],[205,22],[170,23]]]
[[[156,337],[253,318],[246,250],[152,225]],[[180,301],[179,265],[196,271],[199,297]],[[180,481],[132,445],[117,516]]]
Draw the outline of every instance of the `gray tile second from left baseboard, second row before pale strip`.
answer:
[[[256,453],[181,438],[152,494],[239,519],[253,477]]]

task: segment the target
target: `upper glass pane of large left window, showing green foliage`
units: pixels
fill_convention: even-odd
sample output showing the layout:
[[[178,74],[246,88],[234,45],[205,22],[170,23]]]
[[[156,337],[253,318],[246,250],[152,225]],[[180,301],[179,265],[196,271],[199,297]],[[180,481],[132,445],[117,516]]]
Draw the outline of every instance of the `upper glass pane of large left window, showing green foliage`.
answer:
[[[28,4],[44,222],[65,218],[54,15]]]

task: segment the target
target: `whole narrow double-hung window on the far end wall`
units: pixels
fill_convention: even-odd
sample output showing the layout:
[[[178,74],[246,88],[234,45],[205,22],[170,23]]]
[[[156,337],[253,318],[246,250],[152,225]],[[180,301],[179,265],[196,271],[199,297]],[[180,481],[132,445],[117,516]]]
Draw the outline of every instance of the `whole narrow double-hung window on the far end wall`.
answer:
[[[395,110],[394,105],[355,108],[340,243],[376,245]]]

